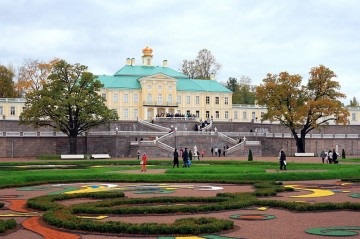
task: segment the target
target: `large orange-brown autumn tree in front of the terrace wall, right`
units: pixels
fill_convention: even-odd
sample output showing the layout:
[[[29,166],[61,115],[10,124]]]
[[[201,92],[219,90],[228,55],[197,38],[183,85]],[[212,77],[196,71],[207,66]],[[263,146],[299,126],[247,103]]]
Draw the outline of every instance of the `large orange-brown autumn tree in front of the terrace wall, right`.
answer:
[[[267,107],[263,120],[279,121],[288,127],[296,141],[297,152],[305,152],[305,136],[311,130],[329,122],[346,124],[350,115],[342,106],[340,84],[335,73],[323,65],[313,67],[307,85],[300,75],[281,72],[268,74],[256,88],[256,99]]]

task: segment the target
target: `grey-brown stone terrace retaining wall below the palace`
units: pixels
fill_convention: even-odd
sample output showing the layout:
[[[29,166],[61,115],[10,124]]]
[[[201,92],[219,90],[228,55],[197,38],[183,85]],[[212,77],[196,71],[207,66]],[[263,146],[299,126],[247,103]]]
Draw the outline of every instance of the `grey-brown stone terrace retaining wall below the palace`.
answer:
[[[193,131],[194,122],[162,122],[164,127],[170,127],[171,124],[177,127],[178,130]],[[119,133],[115,133],[115,127],[118,128]],[[249,132],[249,129],[267,131],[271,133],[287,133],[289,130],[283,126],[271,124],[256,124],[256,123],[232,123],[232,122],[216,122],[214,127],[217,127],[219,132]],[[36,157],[39,155],[60,155],[69,153],[69,141],[64,136],[51,137],[14,137],[6,136],[6,132],[39,132],[50,131],[50,129],[41,128],[34,129],[29,126],[21,126],[17,121],[0,121],[0,157]],[[114,122],[111,124],[102,125],[91,131],[109,132],[103,135],[87,135],[78,137],[77,152],[79,154],[101,154],[107,153],[112,157],[133,157],[136,158],[137,151],[147,152],[149,156],[168,157],[172,158],[172,152],[166,151],[151,144],[132,145],[131,141],[141,138],[155,139],[158,132],[152,131],[147,126],[139,124],[136,121],[128,122]],[[125,132],[125,133],[123,133]],[[144,135],[142,135],[142,133]],[[145,134],[146,133],[146,134]],[[165,132],[166,133],[166,132]],[[311,131],[311,134],[359,134],[360,126],[328,126],[319,130]],[[296,152],[295,140],[292,137],[264,137],[261,135],[247,136],[247,140],[260,141],[261,146],[248,146],[241,151],[237,151],[228,156],[246,156],[249,149],[252,149],[253,155],[274,156],[276,157],[279,150],[283,148],[287,155],[294,155]],[[175,137],[169,137],[165,144],[171,147],[187,147],[193,151],[194,145],[197,146],[199,152],[205,151],[205,155],[210,155],[211,147],[231,147],[233,145],[217,137],[215,134],[205,132],[199,135],[189,134],[181,135],[180,132]],[[359,155],[359,138],[307,138],[306,151],[319,155],[322,150],[330,150],[338,145],[339,151],[345,150],[347,155]]]

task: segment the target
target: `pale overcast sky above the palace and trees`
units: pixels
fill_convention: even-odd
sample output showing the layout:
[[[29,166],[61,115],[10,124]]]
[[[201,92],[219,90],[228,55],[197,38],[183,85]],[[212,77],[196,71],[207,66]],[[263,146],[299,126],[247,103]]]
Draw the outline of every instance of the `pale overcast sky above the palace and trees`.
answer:
[[[141,50],[180,69],[208,49],[216,79],[287,71],[307,81],[312,67],[333,70],[360,100],[358,0],[0,0],[0,64],[65,59],[112,75]]]

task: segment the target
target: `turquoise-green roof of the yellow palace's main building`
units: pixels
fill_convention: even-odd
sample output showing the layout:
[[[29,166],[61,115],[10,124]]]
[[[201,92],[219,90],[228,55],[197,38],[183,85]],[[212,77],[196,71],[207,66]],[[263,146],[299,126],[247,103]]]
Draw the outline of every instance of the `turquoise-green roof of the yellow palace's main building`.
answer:
[[[104,88],[112,89],[141,89],[139,79],[145,76],[164,74],[177,79],[177,91],[200,91],[200,92],[222,92],[231,93],[231,91],[214,80],[189,79],[181,72],[168,67],[159,66],[124,66],[113,76],[102,75],[98,79]]]

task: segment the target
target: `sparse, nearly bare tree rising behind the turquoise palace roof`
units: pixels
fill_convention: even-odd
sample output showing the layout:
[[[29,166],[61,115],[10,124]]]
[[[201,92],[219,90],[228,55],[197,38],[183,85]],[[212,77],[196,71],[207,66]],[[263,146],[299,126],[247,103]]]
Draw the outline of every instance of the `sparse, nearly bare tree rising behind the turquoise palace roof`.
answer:
[[[202,49],[195,60],[183,61],[181,71],[191,79],[210,79],[220,68],[211,51]]]

